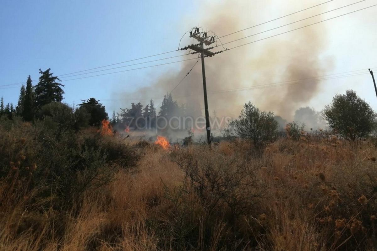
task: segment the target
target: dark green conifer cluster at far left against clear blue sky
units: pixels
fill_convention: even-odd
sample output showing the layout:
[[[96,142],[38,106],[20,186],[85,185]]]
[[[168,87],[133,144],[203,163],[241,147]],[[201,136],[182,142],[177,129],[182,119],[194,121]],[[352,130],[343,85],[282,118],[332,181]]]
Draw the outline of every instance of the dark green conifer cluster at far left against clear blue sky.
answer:
[[[4,105],[3,97],[1,98],[0,116],[6,116],[8,119],[19,116],[31,122],[46,116],[64,120],[64,116],[74,114],[73,119],[76,119],[80,126],[100,125],[101,120],[107,119],[105,106],[95,98],[83,100],[76,110],[63,103],[64,85],[60,83],[61,80],[53,75],[51,68],[45,71],[39,69],[39,73],[40,77],[35,86],[32,85],[30,75],[28,76],[26,86],[22,85],[20,88],[20,96],[15,107],[12,103]]]

